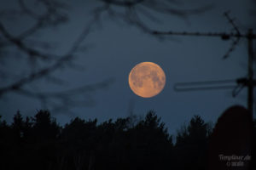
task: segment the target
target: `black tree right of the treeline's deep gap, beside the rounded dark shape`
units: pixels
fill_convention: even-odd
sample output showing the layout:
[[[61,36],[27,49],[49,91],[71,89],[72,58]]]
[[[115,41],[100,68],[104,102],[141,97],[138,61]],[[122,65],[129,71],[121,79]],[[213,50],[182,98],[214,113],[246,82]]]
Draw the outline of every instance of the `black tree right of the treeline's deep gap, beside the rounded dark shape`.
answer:
[[[177,133],[175,155],[177,168],[206,169],[207,167],[207,139],[211,133],[210,125],[194,116],[188,126],[183,126]]]

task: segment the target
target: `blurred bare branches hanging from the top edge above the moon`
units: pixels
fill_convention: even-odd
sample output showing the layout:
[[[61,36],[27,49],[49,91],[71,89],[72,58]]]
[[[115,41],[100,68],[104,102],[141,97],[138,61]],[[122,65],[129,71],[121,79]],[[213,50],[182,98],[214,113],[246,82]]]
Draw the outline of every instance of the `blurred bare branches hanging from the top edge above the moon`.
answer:
[[[124,20],[131,26],[137,26],[146,33],[151,33],[152,29],[143,22],[143,17],[147,17],[153,22],[159,22],[159,14],[167,14],[187,19],[191,14],[202,14],[213,8],[213,5],[206,5],[200,8],[174,8],[177,2],[174,0],[101,0],[104,4],[100,10],[96,11],[96,15],[107,12],[109,17]],[[123,9],[123,10],[119,10]]]

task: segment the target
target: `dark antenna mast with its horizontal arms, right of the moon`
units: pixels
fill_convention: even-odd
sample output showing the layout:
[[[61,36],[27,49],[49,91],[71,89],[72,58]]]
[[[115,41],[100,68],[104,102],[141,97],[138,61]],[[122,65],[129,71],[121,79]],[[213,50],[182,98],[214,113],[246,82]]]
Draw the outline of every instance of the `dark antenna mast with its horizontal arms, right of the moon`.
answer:
[[[247,77],[239,78],[236,80],[237,86],[233,90],[233,97],[241,91],[243,87],[247,87],[247,109],[253,118],[253,88],[256,86],[256,80],[253,79],[253,39],[256,39],[256,35],[253,34],[253,29],[248,29],[247,33],[241,34],[233,19],[230,18],[229,12],[225,12],[224,16],[229,20],[230,25],[234,28],[234,32],[187,32],[187,31],[153,31],[154,35],[176,35],[176,36],[195,36],[195,37],[221,37],[222,40],[230,40],[231,37],[235,38],[231,43],[230,49],[224,54],[224,59],[228,58],[230,53],[236,48],[236,45],[241,38],[247,39],[248,50],[248,65],[247,65]],[[214,86],[214,87],[195,87],[198,85],[209,85],[216,83],[235,82],[235,80],[224,81],[209,81],[209,82],[180,82],[177,83],[174,88],[177,91],[188,90],[201,90],[201,89],[219,89],[219,88],[234,88],[234,86]],[[192,86],[192,88],[191,88]],[[193,87],[194,86],[194,87]],[[183,88],[180,88],[183,87]],[[189,88],[186,88],[189,87]]]

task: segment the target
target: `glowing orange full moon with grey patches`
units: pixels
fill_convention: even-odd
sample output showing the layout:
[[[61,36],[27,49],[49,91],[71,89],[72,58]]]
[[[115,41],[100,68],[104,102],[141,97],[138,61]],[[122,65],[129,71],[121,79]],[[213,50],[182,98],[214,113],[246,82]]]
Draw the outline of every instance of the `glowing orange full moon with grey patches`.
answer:
[[[131,69],[129,85],[134,94],[143,98],[151,98],[160,94],[165,87],[166,74],[159,65],[142,62]]]

